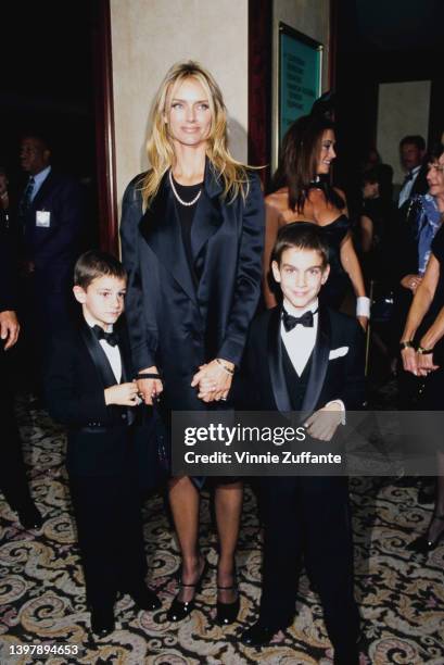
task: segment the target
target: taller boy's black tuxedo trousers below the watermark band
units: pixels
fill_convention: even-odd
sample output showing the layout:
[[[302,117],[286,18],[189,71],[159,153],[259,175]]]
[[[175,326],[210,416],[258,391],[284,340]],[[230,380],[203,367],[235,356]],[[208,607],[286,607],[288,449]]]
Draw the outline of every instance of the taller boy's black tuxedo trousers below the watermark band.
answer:
[[[265,540],[259,622],[276,630],[292,624],[304,561],[333,647],[353,649],[359,613],[354,599],[347,479],[263,478],[261,494]]]

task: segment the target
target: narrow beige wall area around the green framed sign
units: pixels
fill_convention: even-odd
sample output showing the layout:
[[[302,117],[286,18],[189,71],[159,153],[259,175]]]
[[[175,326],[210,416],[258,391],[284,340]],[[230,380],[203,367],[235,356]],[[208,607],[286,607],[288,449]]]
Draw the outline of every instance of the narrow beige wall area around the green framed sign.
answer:
[[[320,41],[324,45],[322,90],[328,89],[330,0],[275,0],[272,7],[272,162],[276,166],[278,154],[278,55],[279,23]]]

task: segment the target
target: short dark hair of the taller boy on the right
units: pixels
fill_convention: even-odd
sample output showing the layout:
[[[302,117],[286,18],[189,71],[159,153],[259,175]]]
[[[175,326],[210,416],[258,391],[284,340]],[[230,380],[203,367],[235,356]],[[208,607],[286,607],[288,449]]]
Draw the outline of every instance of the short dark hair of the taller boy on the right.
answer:
[[[291,248],[319,252],[322,268],[329,262],[328,243],[320,228],[312,222],[292,222],[282,226],[271,251],[271,262],[276,261],[280,265],[283,252]]]

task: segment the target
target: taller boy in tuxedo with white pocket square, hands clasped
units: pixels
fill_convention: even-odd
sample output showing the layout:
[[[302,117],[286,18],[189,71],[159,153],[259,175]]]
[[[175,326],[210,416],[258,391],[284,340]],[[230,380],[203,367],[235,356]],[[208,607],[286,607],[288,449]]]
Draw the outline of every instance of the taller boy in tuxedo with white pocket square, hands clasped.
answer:
[[[330,441],[345,410],[363,405],[364,334],[356,319],[318,303],[329,265],[328,246],[316,225],[296,222],[282,227],[271,260],[283,302],[252,324],[246,347],[246,374],[255,396],[251,407],[303,412],[307,432],[324,453],[332,450]],[[266,644],[292,624],[304,557],[320,595],[334,663],[357,665],[359,615],[346,478],[264,477],[261,499],[261,611],[242,642]]]

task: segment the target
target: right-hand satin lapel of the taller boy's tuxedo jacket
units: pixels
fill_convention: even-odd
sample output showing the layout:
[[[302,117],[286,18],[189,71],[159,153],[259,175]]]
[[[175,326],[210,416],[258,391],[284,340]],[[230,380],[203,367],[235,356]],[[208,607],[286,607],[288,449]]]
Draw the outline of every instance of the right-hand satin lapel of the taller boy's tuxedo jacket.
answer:
[[[330,318],[328,312],[322,306],[319,306],[317,339],[312,353],[312,367],[307,390],[302,404],[302,411],[305,415],[315,411],[320,391],[324,387],[330,353]]]

